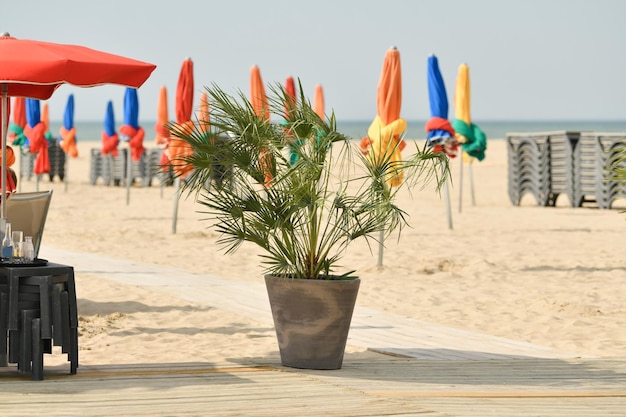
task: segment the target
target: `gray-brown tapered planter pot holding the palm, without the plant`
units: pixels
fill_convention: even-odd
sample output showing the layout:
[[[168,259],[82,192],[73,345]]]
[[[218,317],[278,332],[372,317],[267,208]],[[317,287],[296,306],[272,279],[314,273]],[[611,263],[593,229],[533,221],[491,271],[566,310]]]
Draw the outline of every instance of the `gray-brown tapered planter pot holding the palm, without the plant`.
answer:
[[[284,366],[341,368],[360,283],[265,276]]]

